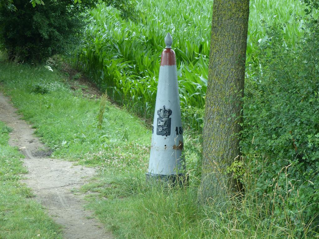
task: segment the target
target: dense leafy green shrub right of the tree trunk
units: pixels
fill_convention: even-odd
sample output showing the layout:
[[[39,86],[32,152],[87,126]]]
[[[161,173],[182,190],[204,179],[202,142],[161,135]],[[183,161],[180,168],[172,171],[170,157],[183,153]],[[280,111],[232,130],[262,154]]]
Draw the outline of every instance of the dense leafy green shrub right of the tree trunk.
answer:
[[[256,193],[273,199],[269,210],[297,236],[319,231],[319,29],[311,14],[303,20],[294,48],[282,25],[260,45],[259,66],[248,69],[241,141]]]

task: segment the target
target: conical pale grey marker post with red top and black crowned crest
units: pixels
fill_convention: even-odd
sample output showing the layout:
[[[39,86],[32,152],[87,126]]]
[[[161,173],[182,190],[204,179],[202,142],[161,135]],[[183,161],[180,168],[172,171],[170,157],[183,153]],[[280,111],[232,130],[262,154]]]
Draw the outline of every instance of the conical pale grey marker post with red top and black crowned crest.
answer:
[[[150,163],[146,179],[184,182],[183,129],[173,39],[165,37],[159,68]]]

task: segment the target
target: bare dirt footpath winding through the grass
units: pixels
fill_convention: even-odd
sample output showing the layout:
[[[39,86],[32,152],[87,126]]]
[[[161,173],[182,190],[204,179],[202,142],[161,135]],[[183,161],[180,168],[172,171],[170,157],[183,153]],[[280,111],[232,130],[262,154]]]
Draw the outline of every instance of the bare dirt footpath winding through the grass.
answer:
[[[29,170],[26,184],[33,189],[39,201],[54,220],[63,225],[65,239],[114,238],[103,230],[95,219],[88,219],[92,212],[84,211],[83,195],[74,195],[71,188],[79,188],[95,173],[93,168],[73,166],[71,162],[48,158],[39,151],[44,145],[33,135],[34,130],[19,120],[10,100],[0,92],[0,120],[13,129],[10,145],[18,146],[26,156],[24,165]],[[64,186],[68,185],[68,186]],[[63,186],[63,187],[61,187]]]

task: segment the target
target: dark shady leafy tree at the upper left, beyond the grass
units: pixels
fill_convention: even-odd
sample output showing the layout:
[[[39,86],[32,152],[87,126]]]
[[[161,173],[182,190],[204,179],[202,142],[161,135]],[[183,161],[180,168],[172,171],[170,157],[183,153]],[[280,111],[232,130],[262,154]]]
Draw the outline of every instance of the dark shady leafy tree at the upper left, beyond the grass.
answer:
[[[80,42],[85,13],[98,0],[0,0],[0,43],[10,59],[41,62],[64,53]],[[133,17],[129,0],[105,0],[109,6]]]

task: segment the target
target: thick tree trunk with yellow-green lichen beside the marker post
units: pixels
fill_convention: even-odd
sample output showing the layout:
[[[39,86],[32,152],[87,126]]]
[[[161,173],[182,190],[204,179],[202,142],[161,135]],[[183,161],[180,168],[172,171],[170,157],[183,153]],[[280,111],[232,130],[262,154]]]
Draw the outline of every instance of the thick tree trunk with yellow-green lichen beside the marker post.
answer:
[[[227,172],[240,159],[249,0],[214,0],[199,199],[225,200],[239,188]]]

